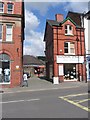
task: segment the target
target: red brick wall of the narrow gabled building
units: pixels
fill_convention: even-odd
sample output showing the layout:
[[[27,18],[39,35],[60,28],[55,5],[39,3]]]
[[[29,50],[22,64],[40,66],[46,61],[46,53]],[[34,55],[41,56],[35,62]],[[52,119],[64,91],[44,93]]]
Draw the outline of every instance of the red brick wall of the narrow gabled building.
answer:
[[[71,25],[73,27],[73,35],[72,36],[66,36],[65,35],[65,25]],[[48,25],[49,26],[49,25]],[[57,55],[64,55],[64,42],[74,42],[75,43],[75,55],[85,55],[85,48],[84,48],[84,30],[82,29],[80,31],[80,29],[76,29],[76,26],[70,21],[67,20],[64,24],[62,24],[62,27],[57,27],[57,26],[53,26],[53,38],[51,37],[51,32],[50,28],[47,28],[47,38],[46,38],[46,46],[48,46],[48,48],[50,47],[50,45],[48,44],[51,41],[51,44],[53,44],[53,76],[54,77],[59,77],[59,79],[64,79],[63,76],[59,76],[58,75],[58,65],[57,61],[56,61],[56,56]],[[76,31],[77,30],[77,31]],[[79,41],[77,42],[77,37],[79,39]],[[53,42],[52,42],[53,41]],[[60,50],[62,50],[60,52]],[[46,53],[48,55],[51,55],[51,52],[46,49]],[[50,56],[49,56],[50,57]],[[50,58],[48,58],[49,61]],[[48,64],[49,66],[49,64]],[[82,70],[83,69],[83,70]],[[48,71],[47,71],[48,72]],[[83,64],[79,64],[79,72],[80,75],[83,77],[83,79],[85,80],[86,78],[86,67]]]

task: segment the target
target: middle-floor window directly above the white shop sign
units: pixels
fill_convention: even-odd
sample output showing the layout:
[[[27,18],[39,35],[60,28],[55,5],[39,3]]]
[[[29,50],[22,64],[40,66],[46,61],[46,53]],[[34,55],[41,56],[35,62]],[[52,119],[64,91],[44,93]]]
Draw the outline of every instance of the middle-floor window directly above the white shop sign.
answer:
[[[73,42],[64,43],[64,53],[65,54],[75,54],[75,45]]]

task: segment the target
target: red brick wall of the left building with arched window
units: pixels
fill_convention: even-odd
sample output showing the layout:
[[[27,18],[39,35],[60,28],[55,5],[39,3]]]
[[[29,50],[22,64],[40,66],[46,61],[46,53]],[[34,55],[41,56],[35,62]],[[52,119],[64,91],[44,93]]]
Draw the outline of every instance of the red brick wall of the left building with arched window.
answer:
[[[4,2],[4,13],[7,13],[7,3],[8,0],[2,0]],[[22,2],[13,2],[14,5],[14,14],[22,15]],[[10,56],[11,63],[10,63],[10,69],[11,69],[11,84],[9,87],[14,87],[20,84],[20,81],[22,80],[22,74],[23,74],[23,67],[22,67],[22,26],[21,26],[21,18],[16,17],[7,17],[6,16],[0,16],[0,19],[3,23],[3,42],[2,42],[2,48],[0,49],[0,53],[6,53]],[[17,19],[17,21],[16,21]],[[6,24],[12,23],[13,25],[13,38],[12,42],[6,42]],[[1,43],[0,43],[1,44]],[[16,66],[19,66],[18,69],[16,69]],[[5,85],[6,86],[6,85]]]

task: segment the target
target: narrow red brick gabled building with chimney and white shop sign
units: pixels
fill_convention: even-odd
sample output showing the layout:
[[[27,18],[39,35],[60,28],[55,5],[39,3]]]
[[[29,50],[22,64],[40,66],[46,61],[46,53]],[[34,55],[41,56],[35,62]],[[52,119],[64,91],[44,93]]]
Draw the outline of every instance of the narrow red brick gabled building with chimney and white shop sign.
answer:
[[[46,76],[55,84],[86,80],[85,40],[82,14],[56,14],[45,28]]]

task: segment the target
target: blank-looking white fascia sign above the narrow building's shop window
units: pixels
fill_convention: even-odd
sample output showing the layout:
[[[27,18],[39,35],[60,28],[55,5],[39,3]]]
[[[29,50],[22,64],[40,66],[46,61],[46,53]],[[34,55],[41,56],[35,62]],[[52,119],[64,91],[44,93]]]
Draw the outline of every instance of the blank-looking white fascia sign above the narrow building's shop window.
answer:
[[[84,56],[61,56],[57,55],[57,63],[83,63]]]

